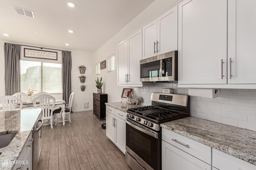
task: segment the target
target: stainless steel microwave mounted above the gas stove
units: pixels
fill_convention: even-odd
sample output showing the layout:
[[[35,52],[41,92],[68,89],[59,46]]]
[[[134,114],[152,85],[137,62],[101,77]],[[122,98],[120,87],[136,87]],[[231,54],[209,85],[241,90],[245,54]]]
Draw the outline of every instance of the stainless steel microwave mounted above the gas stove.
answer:
[[[140,82],[177,81],[178,51],[140,61]]]

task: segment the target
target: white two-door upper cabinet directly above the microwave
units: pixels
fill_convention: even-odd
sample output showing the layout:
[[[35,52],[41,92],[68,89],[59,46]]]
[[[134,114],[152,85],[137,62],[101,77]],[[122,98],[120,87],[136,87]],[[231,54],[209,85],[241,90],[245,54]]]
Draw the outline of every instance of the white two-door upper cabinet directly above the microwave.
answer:
[[[142,27],[142,59],[177,50],[178,6]]]

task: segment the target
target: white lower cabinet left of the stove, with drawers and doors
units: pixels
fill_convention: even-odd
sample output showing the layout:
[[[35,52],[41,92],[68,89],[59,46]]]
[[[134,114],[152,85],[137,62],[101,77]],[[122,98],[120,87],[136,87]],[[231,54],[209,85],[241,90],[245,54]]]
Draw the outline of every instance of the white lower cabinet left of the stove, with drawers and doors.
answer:
[[[106,106],[106,136],[125,154],[126,113]]]

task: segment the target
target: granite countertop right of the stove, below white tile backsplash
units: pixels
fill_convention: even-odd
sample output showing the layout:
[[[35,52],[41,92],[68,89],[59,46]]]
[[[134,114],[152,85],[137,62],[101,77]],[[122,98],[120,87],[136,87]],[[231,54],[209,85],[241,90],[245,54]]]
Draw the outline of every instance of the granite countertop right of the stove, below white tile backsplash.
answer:
[[[161,127],[256,165],[256,131],[186,117]]]

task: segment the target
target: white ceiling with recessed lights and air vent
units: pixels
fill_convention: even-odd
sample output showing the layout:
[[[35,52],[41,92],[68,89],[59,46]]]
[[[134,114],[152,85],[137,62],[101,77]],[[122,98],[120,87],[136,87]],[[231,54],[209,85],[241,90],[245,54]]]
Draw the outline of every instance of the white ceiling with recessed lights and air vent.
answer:
[[[70,8],[68,0],[0,0],[0,39],[94,52],[153,1],[72,0],[76,7]],[[13,6],[34,11],[35,18],[16,14]]]

